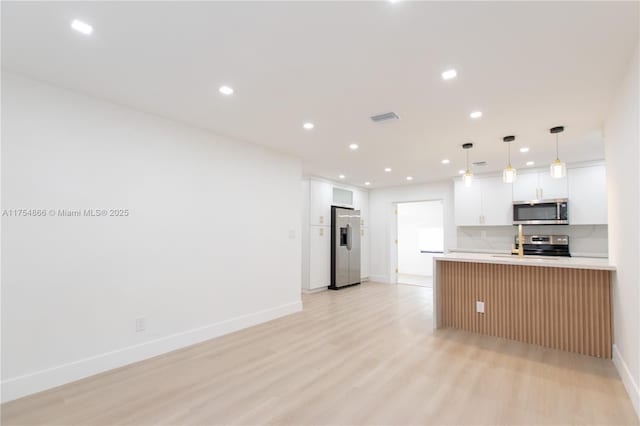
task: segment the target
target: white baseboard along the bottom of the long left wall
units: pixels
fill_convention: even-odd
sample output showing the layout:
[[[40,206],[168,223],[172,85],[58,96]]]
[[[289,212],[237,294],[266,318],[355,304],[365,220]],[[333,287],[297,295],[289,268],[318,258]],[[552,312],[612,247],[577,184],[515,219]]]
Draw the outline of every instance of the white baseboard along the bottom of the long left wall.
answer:
[[[182,349],[301,310],[301,301],[287,303],[275,308],[242,315],[138,345],[7,379],[2,382],[2,402],[11,401],[127,364]]]

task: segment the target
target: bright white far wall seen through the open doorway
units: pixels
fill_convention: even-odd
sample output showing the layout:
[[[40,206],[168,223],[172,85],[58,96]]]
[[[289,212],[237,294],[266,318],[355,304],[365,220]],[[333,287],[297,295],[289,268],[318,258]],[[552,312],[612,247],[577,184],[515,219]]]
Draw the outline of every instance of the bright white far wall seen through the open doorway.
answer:
[[[401,274],[433,276],[433,254],[422,253],[420,231],[439,228],[442,232],[442,201],[398,204],[398,270]],[[433,242],[441,245],[441,239]],[[441,250],[442,247],[437,247]]]

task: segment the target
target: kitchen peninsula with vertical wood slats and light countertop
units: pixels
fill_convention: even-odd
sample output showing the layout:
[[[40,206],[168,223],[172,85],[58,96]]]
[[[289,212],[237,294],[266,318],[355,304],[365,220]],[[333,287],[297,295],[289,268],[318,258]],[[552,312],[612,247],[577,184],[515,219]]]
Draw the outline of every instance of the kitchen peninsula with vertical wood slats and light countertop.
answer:
[[[433,262],[435,328],[611,358],[608,259],[453,252]]]

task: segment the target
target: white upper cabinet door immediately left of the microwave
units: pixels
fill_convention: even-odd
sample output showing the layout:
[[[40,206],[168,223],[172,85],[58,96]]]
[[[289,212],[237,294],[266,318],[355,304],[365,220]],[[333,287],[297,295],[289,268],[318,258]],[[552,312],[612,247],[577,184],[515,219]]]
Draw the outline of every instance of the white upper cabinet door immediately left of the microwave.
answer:
[[[502,178],[486,178],[478,179],[478,186],[482,191],[481,222],[489,226],[513,224],[512,184]]]

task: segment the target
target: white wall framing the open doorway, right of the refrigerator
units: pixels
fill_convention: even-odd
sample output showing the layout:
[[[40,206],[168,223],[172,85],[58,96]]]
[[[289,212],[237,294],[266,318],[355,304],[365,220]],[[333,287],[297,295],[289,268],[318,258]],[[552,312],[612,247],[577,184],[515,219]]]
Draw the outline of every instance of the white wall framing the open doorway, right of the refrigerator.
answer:
[[[373,189],[369,192],[371,224],[371,280],[394,282],[395,234],[394,204],[407,201],[442,200],[444,212],[444,248],[456,246],[453,217],[453,181]]]

